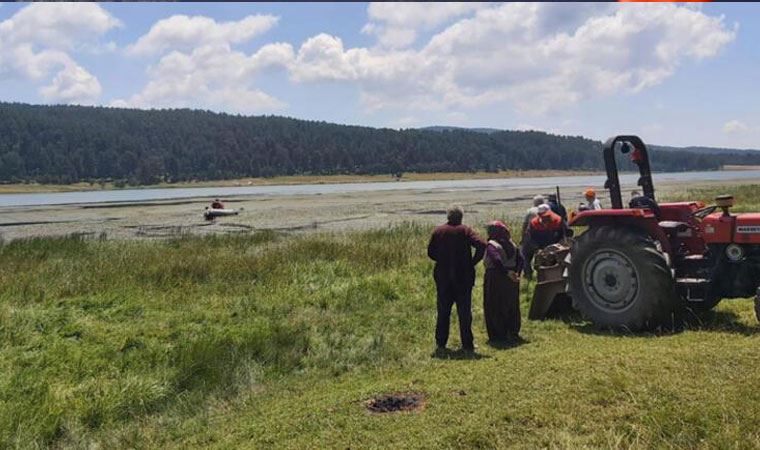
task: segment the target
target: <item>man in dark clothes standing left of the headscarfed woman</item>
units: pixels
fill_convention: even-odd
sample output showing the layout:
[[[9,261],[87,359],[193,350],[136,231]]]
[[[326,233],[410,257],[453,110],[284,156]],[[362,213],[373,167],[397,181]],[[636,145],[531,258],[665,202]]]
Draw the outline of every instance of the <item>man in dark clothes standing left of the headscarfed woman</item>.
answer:
[[[472,228],[462,224],[463,215],[462,208],[449,208],[447,222],[436,227],[430,237],[428,256],[435,261],[433,279],[438,297],[436,345],[439,349],[446,348],[451,308],[456,304],[462,349],[473,351],[472,287],[475,284],[475,266],[483,259],[486,243]]]

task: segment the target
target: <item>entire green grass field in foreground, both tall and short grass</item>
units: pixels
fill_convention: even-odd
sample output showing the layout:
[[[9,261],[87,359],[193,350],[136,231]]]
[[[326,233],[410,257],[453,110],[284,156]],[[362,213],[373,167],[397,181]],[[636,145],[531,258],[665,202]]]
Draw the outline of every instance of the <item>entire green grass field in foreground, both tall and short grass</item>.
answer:
[[[2,244],[0,448],[757,447],[750,301],[656,334],[524,320],[499,349],[479,273],[477,355],[433,357],[429,231]],[[427,403],[366,411],[388,392]]]

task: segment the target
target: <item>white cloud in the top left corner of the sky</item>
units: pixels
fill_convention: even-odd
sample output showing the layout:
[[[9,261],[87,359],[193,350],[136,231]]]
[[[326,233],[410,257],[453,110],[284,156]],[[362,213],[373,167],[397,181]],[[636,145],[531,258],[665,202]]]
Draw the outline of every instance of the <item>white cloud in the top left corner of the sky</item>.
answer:
[[[28,5],[0,22],[0,79],[50,79],[39,89],[47,101],[92,103],[100,83],[69,52],[97,47],[103,34],[119,26],[94,3]]]

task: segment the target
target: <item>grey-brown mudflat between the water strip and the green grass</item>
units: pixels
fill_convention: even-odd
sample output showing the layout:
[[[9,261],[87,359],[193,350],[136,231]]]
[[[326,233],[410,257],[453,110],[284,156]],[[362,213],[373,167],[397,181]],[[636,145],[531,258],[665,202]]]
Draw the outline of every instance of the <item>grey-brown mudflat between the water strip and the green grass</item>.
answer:
[[[760,180],[758,180],[760,182]],[[747,181],[742,181],[747,184]],[[659,198],[667,199],[685,189],[727,186],[710,183],[664,182],[657,184]],[[736,185],[736,183],[734,183]],[[633,189],[624,187],[624,192]],[[279,231],[339,231],[391,226],[402,222],[440,223],[448,205],[464,207],[466,221],[484,223],[493,218],[517,219],[537,193],[525,188],[434,189],[293,196],[238,196],[224,198],[237,216],[203,219],[209,198],[181,200],[71,204],[0,209],[0,236],[5,240],[34,236],[83,234],[107,239],[156,239],[183,234],[246,233],[256,229]],[[600,192],[603,203],[609,203]],[[562,191],[568,208],[578,205],[577,188]]]

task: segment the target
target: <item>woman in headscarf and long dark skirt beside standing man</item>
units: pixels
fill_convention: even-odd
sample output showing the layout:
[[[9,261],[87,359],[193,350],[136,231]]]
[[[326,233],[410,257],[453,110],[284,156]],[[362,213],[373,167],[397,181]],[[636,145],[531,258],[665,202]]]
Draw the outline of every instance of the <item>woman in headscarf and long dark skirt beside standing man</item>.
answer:
[[[509,228],[498,220],[488,224],[483,281],[483,314],[489,340],[514,340],[520,333],[520,271],[522,257]]]

